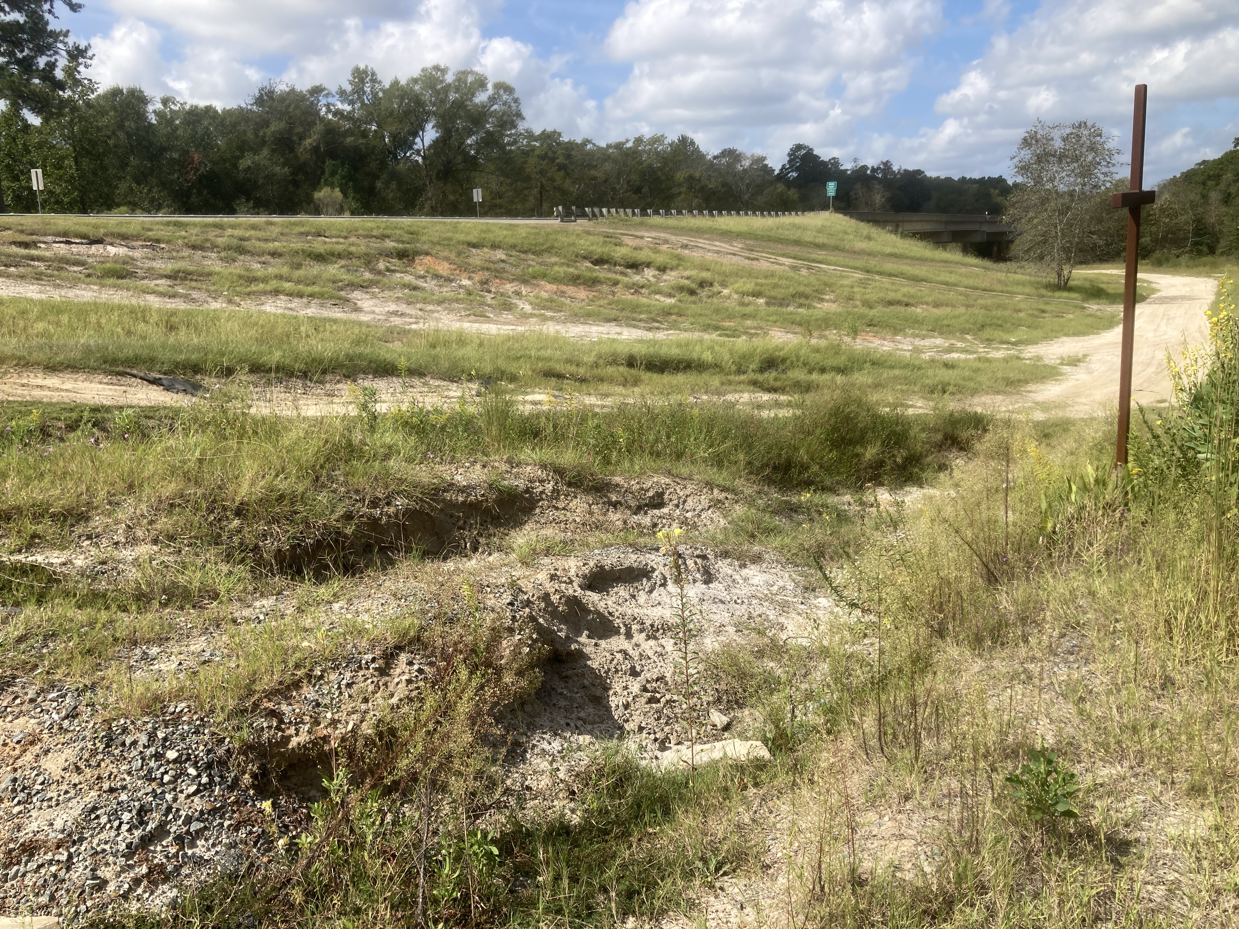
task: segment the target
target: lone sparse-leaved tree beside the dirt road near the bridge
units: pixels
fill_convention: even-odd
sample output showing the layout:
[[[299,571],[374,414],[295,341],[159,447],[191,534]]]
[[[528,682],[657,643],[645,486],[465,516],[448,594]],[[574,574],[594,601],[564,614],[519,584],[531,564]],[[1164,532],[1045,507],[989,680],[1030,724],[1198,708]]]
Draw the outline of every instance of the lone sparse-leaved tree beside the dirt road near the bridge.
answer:
[[[1005,218],[1020,229],[1016,254],[1047,268],[1059,290],[1078,261],[1104,250],[1104,198],[1118,155],[1095,123],[1049,125],[1038,119],[1011,156],[1017,183]]]

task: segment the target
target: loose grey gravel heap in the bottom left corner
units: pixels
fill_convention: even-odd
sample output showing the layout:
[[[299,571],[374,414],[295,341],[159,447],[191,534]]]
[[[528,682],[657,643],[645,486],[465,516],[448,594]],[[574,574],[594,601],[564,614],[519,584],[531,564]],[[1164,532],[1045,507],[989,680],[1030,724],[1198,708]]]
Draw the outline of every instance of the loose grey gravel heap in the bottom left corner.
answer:
[[[0,692],[0,914],[165,905],[301,820],[240,784],[187,706],[103,720],[88,700],[22,680]]]

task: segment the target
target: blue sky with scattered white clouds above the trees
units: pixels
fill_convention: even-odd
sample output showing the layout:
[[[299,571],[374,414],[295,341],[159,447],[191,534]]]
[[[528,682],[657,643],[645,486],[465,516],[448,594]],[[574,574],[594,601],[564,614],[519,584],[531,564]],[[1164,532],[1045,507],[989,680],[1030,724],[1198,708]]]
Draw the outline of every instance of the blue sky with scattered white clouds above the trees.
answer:
[[[356,63],[515,84],[536,128],[597,141],[688,133],[782,161],[824,155],[1002,173],[1033,119],[1126,149],[1150,84],[1150,178],[1239,136],[1235,0],[88,0],[95,77],[235,104],[261,82],[335,87]]]

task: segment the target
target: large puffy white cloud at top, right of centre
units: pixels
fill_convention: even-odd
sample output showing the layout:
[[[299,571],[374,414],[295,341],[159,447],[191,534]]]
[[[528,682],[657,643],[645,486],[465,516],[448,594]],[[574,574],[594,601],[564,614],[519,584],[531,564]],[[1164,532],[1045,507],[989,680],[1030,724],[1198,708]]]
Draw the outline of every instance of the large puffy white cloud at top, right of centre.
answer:
[[[830,147],[907,87],[939,24],[939,0],[636,0],[606,41],[633,62],[606,125]]]

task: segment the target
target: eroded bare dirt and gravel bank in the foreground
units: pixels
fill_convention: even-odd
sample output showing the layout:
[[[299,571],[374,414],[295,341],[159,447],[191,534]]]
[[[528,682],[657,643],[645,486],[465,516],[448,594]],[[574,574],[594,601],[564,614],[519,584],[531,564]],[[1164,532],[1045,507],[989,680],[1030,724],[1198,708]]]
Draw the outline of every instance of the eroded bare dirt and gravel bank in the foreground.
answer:
[[[528,491],[534,471],[508,478]],[[732,505],[727,494],[672,478],[584,491],[544,477],[540,498],[512,538],[518,547],[548,533],[709,529]],[[462,479],[482,481],[481,472]],[[109,540],[99,530],[63,551],[9,557],[116,585],[135,560],[152,554],[125,533]],[[673,680],[669,556],[648,544],[533,559],[486,547],[488,554],[466,546],[445,550],[440,561],[399,562],[358,578],[325,606],[307,606],[290,590],[234,602],[209,621],[198,609],[167,611],[178,632],[123,649],[116,660],[130,687],[190,681],[203,668],[240,660],[239,627],[296,621],[326,634],[374,626],[416,609],[427,590],[467,580],[482,608],[513,635],[536,643],[544,658],[538,691],[499,716],[504,804],[571,816],[575,765],[596,739],[623,741],[658,763],[686,738]],[[737,561],[700,545],[686,546],[684,557],[703,653],[740,634],[803,635],[835,619],[830,601],[807,592],[799,572],[778,559]],[[313,649],[313,633],[305,635],[302,645]],[[416,652],[356,649],[311,660],[296,680],[256,694],[247,735],[229,738],[192,704],[128,717],[89,681],[0,679],[0,912],[67,917],[160,907],[254,855],[275,853],[306,826],[307,804],[321,798],[332,739],[364,727],[377,707],[416,700],[431,680],[432,663]],[[743,726],[725,702],[709,709],[699,742]]]

